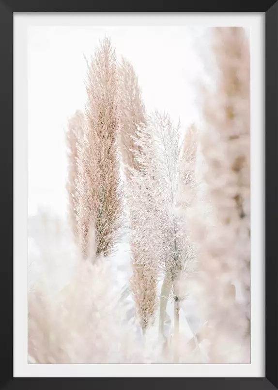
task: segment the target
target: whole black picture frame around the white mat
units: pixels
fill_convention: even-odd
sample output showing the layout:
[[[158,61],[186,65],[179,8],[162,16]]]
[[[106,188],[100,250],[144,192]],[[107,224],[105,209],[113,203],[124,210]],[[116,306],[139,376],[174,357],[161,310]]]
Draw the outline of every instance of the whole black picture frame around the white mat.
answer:
[[[265,13],[265,377],[263,378],[14,378],[13,377],[13,14],[20,12],[263,12]],[[278,1],[180,3],[0,0],[1,124],[1,389],[142,388],[278,389]],[[27,97],[26,97],[27,98]],[[262,234],[264,233],[264,229]],[[263,275],[262,275],[263,277]],[[175,384],[175,382],[179,383]]]

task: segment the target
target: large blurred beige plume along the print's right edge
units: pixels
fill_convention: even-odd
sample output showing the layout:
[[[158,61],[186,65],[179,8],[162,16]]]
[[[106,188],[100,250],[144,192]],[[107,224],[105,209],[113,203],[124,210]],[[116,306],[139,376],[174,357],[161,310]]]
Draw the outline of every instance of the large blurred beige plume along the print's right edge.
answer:
[[[210,363],[250,362],[250,54],[240,27],[213,29],[216,85],[203,90],[204,199],[193,213],[200,242],[192,285]],[[210,222],[208,224],[208,221]]]

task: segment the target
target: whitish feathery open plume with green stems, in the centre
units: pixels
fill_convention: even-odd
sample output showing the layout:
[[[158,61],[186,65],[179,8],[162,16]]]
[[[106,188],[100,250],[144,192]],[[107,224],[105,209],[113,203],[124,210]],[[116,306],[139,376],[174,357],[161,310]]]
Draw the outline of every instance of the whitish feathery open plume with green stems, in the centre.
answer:
[[[140,248],[139,264],[151,276],[163,279],[160,297],[159,329],[163,333],[170,291],[174,297],[175,334],[179,332],[179,310],[183,297],[177,282],[191,272],[192,250],[181,211],[182,153],[179,126],[168,114],[155,112],[146,126],[138,129],[134,150],[140,170],[132,173],[129,189],[130,212],[135,220],[132,240]],[[140,150],[140,152],[139,152]]]

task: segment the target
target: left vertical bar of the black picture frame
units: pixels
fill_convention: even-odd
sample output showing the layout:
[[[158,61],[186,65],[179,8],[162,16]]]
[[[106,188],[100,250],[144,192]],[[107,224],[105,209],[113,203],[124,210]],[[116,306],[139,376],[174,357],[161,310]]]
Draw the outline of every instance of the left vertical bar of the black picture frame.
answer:
[[[13,377],[13,11],[0,1],[1,375]]]

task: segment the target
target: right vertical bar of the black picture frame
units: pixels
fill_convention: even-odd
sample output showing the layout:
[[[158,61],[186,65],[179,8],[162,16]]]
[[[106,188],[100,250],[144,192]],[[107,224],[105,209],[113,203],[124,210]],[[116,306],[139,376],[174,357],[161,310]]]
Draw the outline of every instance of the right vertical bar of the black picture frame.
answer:
[[[265,14],[265,375],[278,388],[278,2]]]

